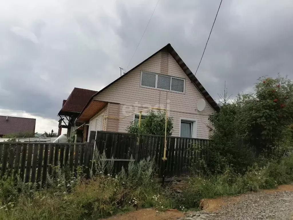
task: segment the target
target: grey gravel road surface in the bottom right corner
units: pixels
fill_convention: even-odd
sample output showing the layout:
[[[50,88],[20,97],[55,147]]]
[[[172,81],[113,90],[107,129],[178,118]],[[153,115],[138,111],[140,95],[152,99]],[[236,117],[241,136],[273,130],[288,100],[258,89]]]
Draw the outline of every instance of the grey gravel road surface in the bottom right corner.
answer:
[[[293,220],[293,192],[249,193],[214,212],[187,212],[188,220]]]

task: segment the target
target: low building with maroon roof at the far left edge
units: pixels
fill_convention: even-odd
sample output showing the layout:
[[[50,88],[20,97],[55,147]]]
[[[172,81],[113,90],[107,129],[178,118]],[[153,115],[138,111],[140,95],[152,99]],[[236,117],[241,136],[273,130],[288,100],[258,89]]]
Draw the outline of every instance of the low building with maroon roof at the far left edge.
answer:
[[[36,119],[0,116],[0,137],[8,134],[35,133]]]

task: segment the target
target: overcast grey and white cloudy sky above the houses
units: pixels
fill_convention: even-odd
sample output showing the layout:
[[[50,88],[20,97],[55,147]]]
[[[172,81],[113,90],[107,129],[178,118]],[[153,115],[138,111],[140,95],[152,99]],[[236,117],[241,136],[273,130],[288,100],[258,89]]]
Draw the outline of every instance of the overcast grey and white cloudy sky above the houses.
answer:
[[[74,87],[100,90],[127,68],[157,0],[0,0],[0,115],[57,131]],[[128,70],[171,43],[195,73],[220,0],[160,0]],[[223,0],[197,78],[212,95],[292,74],[293,1]]]

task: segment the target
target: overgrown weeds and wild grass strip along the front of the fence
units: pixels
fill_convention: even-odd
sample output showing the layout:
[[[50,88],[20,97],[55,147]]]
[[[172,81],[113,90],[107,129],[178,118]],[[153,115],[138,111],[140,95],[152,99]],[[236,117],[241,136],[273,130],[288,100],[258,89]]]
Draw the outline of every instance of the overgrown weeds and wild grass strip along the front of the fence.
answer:
[[[103,154],[96,156],[97,170],[89,180],[58,167],[54,167],[57,178],[49,178],[45,189],[38,189],[37,183],[0,180],[0,219],[98,219],[148,207],[183,211],[199,207],[203,198],[274,188],[293,180],[293,154],[289,154],[255,163],[243,175],[228,166],[221,175],[200,173],[181,182],[183,192],[178,197],[154,181],[156,169],[150,158],[130,162],[127,170],[122,167],[116,175],[107,173],[113,165],[99,159]]]

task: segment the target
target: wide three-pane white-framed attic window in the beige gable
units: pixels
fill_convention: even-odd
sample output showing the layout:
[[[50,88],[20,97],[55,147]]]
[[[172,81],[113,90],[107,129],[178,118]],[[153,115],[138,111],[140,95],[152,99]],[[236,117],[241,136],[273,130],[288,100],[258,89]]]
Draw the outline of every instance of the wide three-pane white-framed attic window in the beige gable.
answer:
[[[178,77],[171,77],[143,71],[141,74],[142,87],[184,93],[184,85],[185,79]]]

